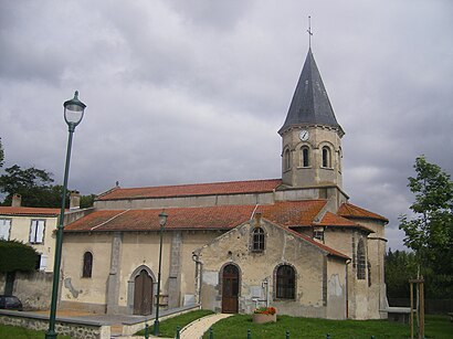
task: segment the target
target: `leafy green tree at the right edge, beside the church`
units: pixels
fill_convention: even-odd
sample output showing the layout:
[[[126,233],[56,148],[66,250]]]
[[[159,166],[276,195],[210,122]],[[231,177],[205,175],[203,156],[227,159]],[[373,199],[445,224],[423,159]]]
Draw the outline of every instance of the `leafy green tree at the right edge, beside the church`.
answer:
[[[445,282],[453,275],[453,182],[438,165],[421,156],[415,159],[417,177],[409,178],[415,201],[413,215],[401,215],[400,230],[404,245],[415,252],[424,271],[432,269]]]

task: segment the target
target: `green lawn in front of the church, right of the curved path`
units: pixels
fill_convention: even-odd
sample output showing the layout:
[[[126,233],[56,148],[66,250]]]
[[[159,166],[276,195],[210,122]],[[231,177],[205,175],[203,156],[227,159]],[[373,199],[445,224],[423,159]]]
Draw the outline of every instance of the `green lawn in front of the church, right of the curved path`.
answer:
[[[233,329],[233,330],[232,330]],[[326,338],[331,339],[370,339],[380,338],[410,338],[409,325],[391,322],[388,320],[326,320],[312,318],[295,318],[278,316],[277,322],[257,325],[252,322],[251,315],[234,315],[212,326],[213,337],[218,338],[246,338],[247,329],[252,338],[285,338],[286,330],[289,338]],[[204,339],[209,338],[204,333]],[[426,316],[425,338],[453,338],[453,324],[446,316]]]

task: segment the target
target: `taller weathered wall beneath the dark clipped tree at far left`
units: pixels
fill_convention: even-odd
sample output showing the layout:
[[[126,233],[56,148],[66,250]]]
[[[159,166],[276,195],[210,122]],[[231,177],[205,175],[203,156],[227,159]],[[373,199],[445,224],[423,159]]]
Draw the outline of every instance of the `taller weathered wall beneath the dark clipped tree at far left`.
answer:
[[[12,295],[17,296],[24,309],[49,309],[52,295],[53,274],[36,271],[15,273]],[[6,274],[0,274],[0,294],[4,293]]]

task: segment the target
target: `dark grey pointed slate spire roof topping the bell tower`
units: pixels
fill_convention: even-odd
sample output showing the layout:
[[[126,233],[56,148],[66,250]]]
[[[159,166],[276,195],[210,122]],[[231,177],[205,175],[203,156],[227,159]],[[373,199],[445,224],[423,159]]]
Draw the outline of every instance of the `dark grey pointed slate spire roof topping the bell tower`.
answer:
[[[305,59],[286,120],[278,133],[282,134],[292,126],[303,125],[330,126],[338,128],[344,134],[335,117],[312,49],[308,50]]]

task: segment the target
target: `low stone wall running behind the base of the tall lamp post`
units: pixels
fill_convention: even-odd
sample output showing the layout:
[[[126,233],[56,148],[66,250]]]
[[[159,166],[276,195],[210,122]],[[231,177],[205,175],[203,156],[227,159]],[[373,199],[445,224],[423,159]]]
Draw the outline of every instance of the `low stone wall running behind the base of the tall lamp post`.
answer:
[[[0,310],[0,324],[45,331],[49,328],[49,316]],[[110,327],[108,325],[89,320],[57,319],[55,331],[71,338],[110,338]]]

